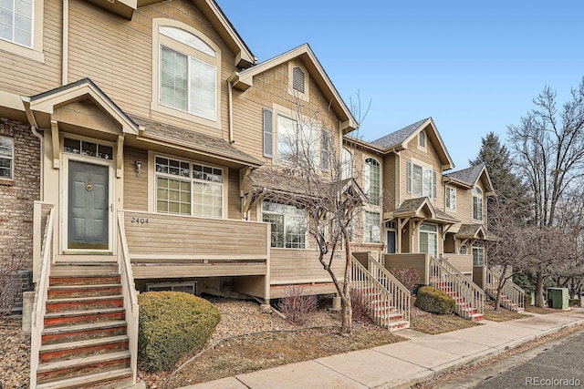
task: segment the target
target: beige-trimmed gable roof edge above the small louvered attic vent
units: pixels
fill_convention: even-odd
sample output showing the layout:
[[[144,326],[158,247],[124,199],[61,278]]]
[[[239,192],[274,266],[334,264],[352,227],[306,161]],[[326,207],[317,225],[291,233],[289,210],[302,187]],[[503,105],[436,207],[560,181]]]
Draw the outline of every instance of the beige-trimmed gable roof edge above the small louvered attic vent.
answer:
[[[256,75],[296,58],[299,58],[302,61],[302,64],[307,68],[311,79],[313,79],[318,85],[324,97],[330,102],[330,107],[341,119],[343,134],[348,134],[353,129],[358,128],[359,125],[355,118],[353,118],[349,107],[347,107],[343,99],[340,97],[337,88],[333,85],[327,72],[322,65],[320,65],[317,56],[315,56],[308,44],[297,46],[286,53],[268,59],[254,67],[249,67],[241,72],[236,72],[229,78],[229,81],[232,82],[234,87],[246,90],[254,85],[254,77]]]

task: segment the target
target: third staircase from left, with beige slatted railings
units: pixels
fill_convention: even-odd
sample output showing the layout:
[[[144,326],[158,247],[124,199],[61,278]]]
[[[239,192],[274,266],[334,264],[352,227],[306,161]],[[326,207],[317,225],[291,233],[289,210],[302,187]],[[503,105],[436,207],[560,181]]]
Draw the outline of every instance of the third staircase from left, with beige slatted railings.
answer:
[[[473,319],[473,310],[476,310],[478,314],[484,314],[485,292],[447,261],[438,261],[432,255],[429,256],[431,284],[437,289],[451,289],[450,292],[453,293],[454,300],[459,300],[455,305],[456,313],[471,320]]]

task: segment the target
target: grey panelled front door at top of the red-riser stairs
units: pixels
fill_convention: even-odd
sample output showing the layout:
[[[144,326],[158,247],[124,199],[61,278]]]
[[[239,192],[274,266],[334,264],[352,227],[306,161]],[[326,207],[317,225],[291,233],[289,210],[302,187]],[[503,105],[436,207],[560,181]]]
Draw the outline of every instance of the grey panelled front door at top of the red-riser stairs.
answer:
[[[68,161],[68,249],[110,247],[110,168]]]

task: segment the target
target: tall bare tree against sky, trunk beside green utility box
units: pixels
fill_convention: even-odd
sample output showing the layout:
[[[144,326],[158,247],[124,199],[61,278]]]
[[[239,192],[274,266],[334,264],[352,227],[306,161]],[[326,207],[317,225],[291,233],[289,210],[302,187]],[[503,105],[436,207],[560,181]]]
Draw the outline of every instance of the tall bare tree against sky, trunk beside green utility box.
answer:
[[[558,109],[550,87],[534,99],[535,108],[508,127],[511,151],[533,199],[533,223],[541,230],[556,227],[558,204],[584,177],[584,80]],[[533,242],[543,245],[544,242]],[[538,261],[536,305],[544,306],[543,288],[551,262]]]

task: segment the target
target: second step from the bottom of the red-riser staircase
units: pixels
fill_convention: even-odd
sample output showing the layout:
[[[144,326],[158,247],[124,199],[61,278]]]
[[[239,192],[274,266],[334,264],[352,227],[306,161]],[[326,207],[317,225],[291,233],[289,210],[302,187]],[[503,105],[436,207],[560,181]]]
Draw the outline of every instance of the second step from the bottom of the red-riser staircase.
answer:
[[[42,363],[36,371],[38,384],[67,380],[130,367],[130,351],[103,353],[66,361]]]

